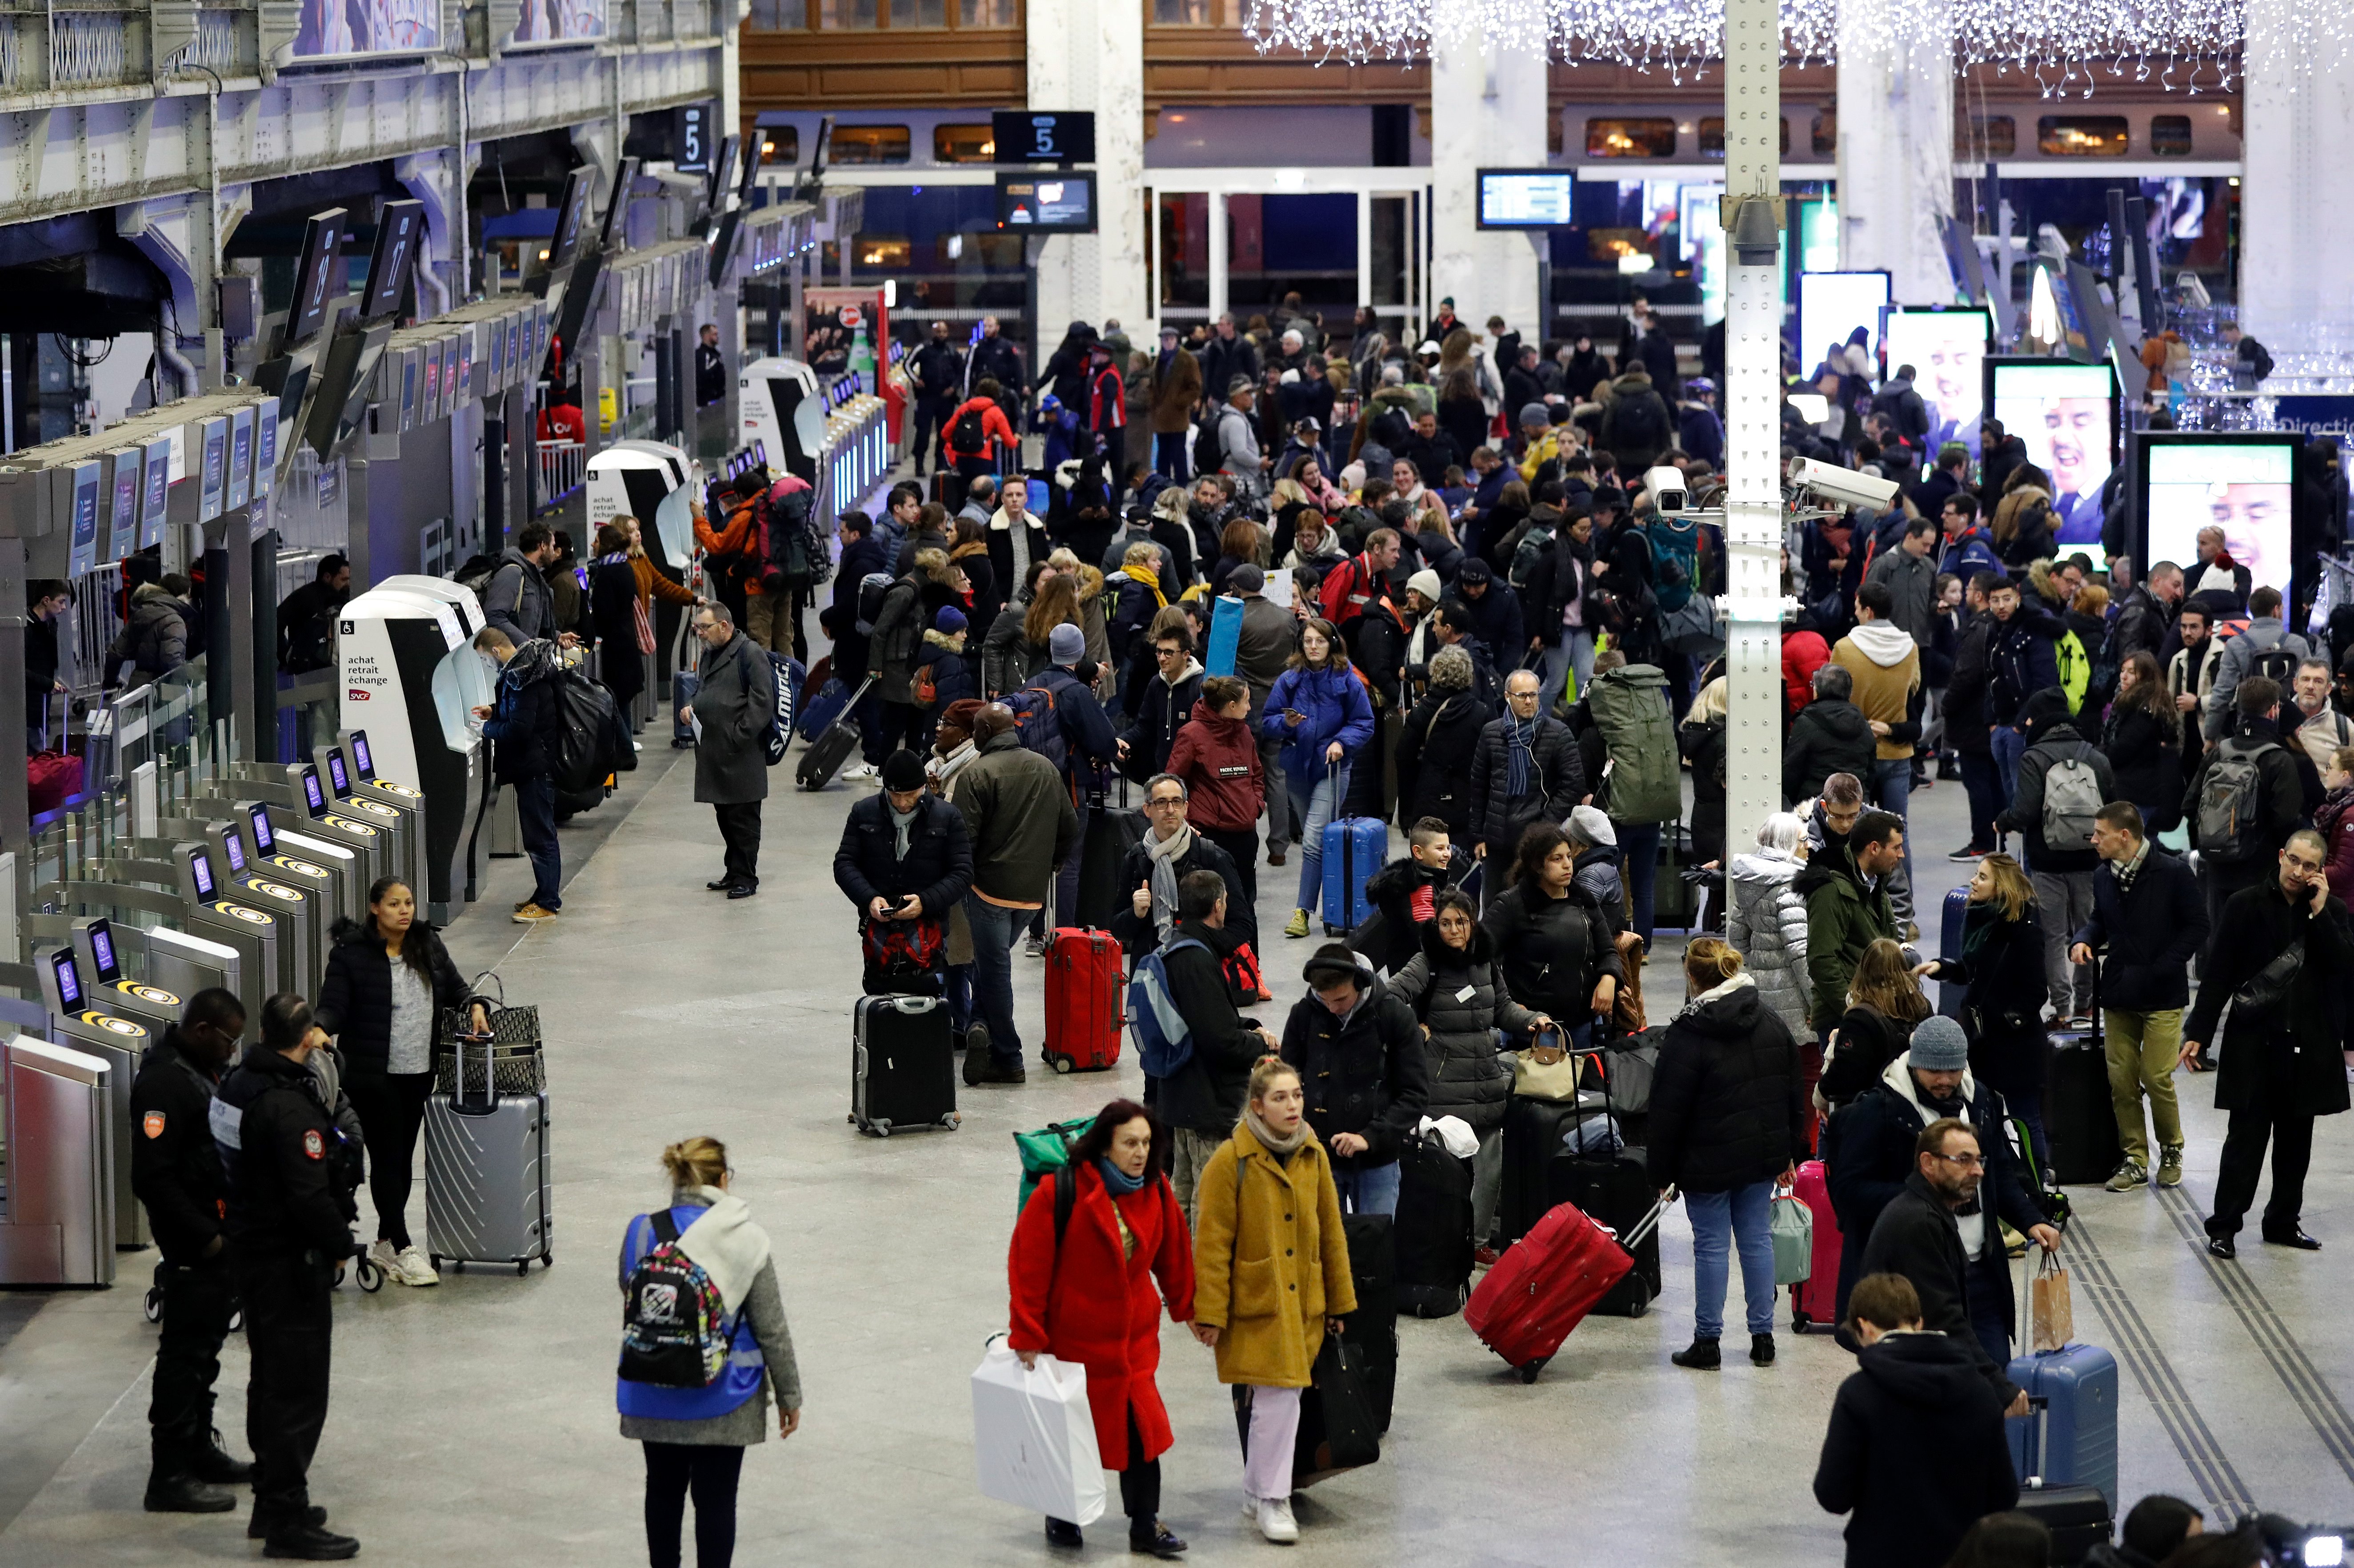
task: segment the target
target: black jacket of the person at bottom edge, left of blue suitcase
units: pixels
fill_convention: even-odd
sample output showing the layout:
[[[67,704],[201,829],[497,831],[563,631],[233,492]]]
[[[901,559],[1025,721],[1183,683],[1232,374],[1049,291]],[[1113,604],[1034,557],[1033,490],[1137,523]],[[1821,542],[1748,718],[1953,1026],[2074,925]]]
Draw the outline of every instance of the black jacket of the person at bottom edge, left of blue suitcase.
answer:
[[[1968,1344],[1895,1333],[1838,1384],[1815,1502],[1848,1519],[1848,1568],[1944,1568],[1984,1514],[2020,1500],[2003,1406]]]

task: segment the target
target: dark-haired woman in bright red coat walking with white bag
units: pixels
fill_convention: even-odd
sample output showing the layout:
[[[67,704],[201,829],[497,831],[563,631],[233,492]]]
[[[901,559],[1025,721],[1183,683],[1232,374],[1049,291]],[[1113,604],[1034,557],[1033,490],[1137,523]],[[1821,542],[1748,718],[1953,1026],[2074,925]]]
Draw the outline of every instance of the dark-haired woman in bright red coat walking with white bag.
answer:
[[[1153,1373],[1161,1366],[1161,1300],[1170,1318],[1193,1316],[1193,1236],[1170,1191],[1168,1130],[1132,1099],[1113,1099],[1071,1147],[1071,1163],[1038,1182],[1015,1222],[1005,1262],[1012,1283],[1008,1344],[1024,1366],[1038,1354],[1088,1368],[1088,1408],[1104,1469],[1121,1471],[1128,1547],[1175,1561],[1184,1552],[1161,1523],[1161,1455],[1175,1441]],[[1055,1189],[1076,1201],[1055,1245]],[[1153,1288],[1158,1281],[1158,1290]],[[1052,1547],[1078,1547],[1078,1526],[1045,1521]]]

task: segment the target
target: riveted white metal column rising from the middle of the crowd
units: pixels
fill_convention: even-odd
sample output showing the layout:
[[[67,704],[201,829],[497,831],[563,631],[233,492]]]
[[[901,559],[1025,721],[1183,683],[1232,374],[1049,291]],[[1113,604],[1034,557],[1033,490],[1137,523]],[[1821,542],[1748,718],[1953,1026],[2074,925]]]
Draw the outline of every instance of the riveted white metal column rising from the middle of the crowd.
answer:
[[[1725,226],[1742,198],[1782,210],[1782,21],[1775,0],[1725,0]],[[1782,268],[1725,283],[1725,556],[1730,629],[1725,859],[1782,810]]]

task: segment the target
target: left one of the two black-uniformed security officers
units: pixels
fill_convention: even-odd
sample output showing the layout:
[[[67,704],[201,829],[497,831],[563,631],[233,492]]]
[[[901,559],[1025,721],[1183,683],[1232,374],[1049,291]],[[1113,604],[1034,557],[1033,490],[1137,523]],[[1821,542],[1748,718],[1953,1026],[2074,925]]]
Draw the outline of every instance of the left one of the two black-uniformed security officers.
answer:
[[[228,1486],[252,1479],[250,1464],[221,1453],[212,1424],[212,1382],[238,1307],[212,1097],[240,1034],[245,1003],[235,991],[198,991],[132,1081],[132,1191],[162,1248],[162,1342],[148,1398],[151,1514],[226,1514],[238,1507]]]

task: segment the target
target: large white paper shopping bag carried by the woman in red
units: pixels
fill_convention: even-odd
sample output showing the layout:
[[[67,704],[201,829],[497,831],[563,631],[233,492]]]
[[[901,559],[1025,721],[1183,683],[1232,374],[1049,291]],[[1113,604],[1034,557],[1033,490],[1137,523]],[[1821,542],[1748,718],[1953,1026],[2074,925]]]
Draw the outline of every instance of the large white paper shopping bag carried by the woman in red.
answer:
[[[972,1457],[984,1497],[1080,1526],[1102,1519],[1104,1457],[1088,1368],[1055,1356],[1026,1368],[993,1342],[972,1370]]]

